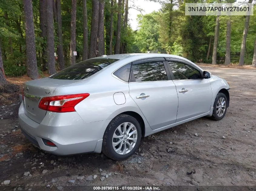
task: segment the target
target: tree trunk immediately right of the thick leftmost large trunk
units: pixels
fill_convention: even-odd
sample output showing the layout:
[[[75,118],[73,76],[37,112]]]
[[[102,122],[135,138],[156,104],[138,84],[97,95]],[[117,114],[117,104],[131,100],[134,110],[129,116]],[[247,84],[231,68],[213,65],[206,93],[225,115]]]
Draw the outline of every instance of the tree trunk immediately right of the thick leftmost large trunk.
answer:
[[[39,0],[39,26],[41,29],[40,36],[43,38],[42,46],[42,63],[43,71],[47,70],[47,51],[46,51],[46,10],[45,0]]]

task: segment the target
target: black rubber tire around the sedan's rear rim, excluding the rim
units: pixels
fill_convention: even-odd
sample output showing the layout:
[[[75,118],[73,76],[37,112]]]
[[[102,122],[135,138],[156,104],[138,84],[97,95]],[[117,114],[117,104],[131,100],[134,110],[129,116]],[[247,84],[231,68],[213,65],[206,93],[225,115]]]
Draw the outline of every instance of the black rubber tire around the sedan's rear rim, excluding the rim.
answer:
[[[137,141],[135,143],[134,148],[131,149],[130,152],[128,152],[127,154],[118,154],[116,153],[116,151],[112,146],[113,135],[115,133],[116,128],[125,122],[132,123],[135,126],[137,130]],[[105,133],[103,136],[102,152],[106,156],[108,156],[109,158],[115,161],[122,161],[129,158],[131,155],[135,153],[135,151],[138,149],[140,145],[140,141],[141,141],[141,127],[138,121],[132,116],[120,114],[111,120],[111,122],[108,124],[107,129],[105,130]]]

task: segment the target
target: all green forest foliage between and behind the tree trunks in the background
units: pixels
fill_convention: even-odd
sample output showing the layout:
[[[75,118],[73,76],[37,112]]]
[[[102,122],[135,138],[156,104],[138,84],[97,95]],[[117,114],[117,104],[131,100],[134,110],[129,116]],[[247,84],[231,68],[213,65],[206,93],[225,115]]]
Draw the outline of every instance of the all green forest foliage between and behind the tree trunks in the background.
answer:
[[[116,42],[117,3],[105,0],[105,47],[109,52],[110,14],[113,11],[112,52]],[[164,49],[169,54],[183,56],[194,62],[203,60],[211,63],[216,16],[185,16],[185,3],[214,2],[214,0],[168,0],[162,2],[162,8],[150,14],[138,15],[139,29],[133,31],[129,26],[121,26],[121,44],[125,44],[126,53],[145,53],[147,50]],[[215,1],[216,2],[216,1]],[[129,4],[131,2],[129,1]],[[42,68],[42,50],[46,49],[46,39],[40,37],[39,0],[32,1],[35,28],[35,48],[38,68]],[[69,66],[71,0],[61,1],[63,50],[65,64]],[[26,73],[25,63],[25,22],[22,0],[0,0],[0,42],[7,76],[21,76]],[[256,6],[254,5],[254,13]],[[87,1],[88,40],[90,41],[92,2]],[[123,13],[123,12],[122,12]],[[217,55],[225,56],[227,16],[220,17]],[[122,20],[124,17],[122,16]],[[231,52],[240,52],[245,16],[231,17]],[[123,23],[123,21],[122,21]],[[55,23],[55,29],[57,24]],[[210,54],[206,60],[209,41]],[[251,64],[256,38],[256,16],[250,16],[249,31],[246,40],[245,63]],[[55,32],[55,52],[58,38]],[[89,43],[89,42],[88,42]],[[81,61],[83,50],[83,10],[82,1],[77,1],[76,14],[76,62]],[[57,66],[58,67],[58,66]],[[42,74],[42,71],[39,71]]]

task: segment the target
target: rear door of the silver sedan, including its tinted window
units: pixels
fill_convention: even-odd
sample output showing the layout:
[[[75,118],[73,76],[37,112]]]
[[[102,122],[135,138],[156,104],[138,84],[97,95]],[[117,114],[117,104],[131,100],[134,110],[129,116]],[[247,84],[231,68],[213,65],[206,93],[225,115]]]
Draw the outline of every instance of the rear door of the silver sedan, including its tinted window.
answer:
[[[164,58],[132,62],[129,94],[151,129],[175,123],[178,95]]]

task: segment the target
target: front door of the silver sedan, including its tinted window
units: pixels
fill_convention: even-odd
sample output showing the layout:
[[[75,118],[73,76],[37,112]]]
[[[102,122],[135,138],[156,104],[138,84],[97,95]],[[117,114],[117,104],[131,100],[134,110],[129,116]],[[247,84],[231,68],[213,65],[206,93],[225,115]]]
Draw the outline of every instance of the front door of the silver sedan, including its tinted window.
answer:
[[[212,100],[210,81],[203,78],[202,72],[189,62],[166,60],[178,93],[176,122],[209,112]]]

